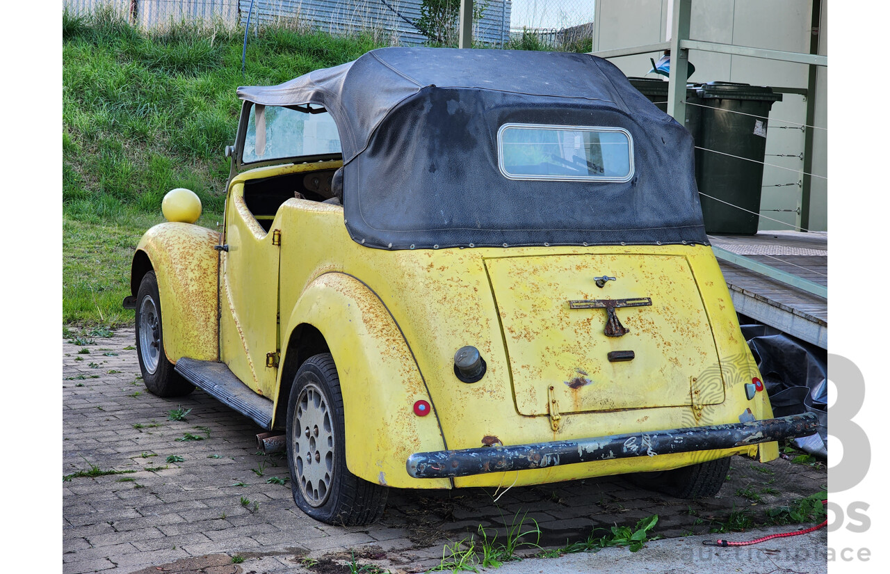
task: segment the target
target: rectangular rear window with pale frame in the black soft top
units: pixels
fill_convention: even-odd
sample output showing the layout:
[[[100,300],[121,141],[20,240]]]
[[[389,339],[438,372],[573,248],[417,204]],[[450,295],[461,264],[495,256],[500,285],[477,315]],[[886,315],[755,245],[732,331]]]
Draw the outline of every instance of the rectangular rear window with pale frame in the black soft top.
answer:
[[[630,133],[611,127],[506,124],[498,130],[498,163],[514,180],[627,182],[634,175]]]

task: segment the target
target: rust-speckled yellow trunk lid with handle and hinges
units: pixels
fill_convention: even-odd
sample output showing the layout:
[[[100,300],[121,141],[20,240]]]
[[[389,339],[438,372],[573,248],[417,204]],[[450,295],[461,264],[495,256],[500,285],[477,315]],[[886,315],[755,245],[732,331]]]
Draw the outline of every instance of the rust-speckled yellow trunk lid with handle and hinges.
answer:
[[[485,265],[522,415],[546,415],[552,400],[562,413],[692,406],[693,394],[700,406],[724,401],[708,315],[683,255],[502,257]],[[615,279],[597,287],[598,277]],[[606,336],[604,307],[616,300],[640,306],[619,303],[614,314],[627,333]],[[609,360],[628,351],[633,360]]]

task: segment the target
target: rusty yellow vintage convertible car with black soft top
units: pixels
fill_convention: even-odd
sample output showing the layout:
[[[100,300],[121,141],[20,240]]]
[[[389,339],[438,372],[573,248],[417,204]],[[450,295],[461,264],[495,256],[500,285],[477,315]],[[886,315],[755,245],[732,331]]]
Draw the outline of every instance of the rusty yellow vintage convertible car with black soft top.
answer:
[[[150,392],[283,435],[296,504],[632,473],[712,496],[778,456],[708,247],[692,137],[587,54],[384,48],[242,87],[222,230],[136,249]]]

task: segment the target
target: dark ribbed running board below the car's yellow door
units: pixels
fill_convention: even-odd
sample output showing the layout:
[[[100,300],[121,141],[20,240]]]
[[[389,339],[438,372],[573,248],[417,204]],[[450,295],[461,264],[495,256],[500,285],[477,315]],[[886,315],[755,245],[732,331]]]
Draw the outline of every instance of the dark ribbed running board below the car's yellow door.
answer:
[[[203,389],[225,406],[234,408],[264,429],[271,430],[274,403],[253,392],[225,363],[182,358],[176,361],[175,370],[189,383]]]

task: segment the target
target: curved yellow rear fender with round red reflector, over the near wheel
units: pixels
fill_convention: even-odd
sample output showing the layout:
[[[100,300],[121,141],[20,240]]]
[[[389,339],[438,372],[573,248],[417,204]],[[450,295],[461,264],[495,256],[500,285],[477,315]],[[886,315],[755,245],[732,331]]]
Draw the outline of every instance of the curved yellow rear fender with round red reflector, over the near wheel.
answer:
[[[411,478],[405,467],[411,454],[442,450],[445,444],[414,355],[368,286],[342,272],[320,275],[303,290],[283,333],[287,336],[282,337],[282,368],[275,392],[279,427],[284,425],[299,365],[316,352],[329,351],[343,395],[350,472],[401,489],[450,488],[447,479]],[[430,403],[427,416],[415,414],[418,400]]]

